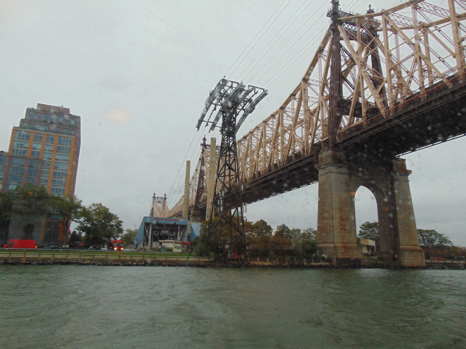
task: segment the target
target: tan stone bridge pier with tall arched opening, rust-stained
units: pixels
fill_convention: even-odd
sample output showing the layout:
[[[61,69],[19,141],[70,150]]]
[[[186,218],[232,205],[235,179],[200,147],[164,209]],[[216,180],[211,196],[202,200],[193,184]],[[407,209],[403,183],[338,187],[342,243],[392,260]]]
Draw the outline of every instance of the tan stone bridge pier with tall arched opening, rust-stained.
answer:
[[[317,240],[333,264],[360,264],[354,198],[360,186],[376,198],[380,256],[390,265],[424,267],[404,159],[380,160],[323,150],[319,171]]]

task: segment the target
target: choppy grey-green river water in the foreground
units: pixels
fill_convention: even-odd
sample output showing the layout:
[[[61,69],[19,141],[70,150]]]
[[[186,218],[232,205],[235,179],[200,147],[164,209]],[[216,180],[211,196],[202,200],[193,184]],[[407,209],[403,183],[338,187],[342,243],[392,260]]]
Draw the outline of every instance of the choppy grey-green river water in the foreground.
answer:
[[[463,270],[0,266],[0,348],[466,348]]]

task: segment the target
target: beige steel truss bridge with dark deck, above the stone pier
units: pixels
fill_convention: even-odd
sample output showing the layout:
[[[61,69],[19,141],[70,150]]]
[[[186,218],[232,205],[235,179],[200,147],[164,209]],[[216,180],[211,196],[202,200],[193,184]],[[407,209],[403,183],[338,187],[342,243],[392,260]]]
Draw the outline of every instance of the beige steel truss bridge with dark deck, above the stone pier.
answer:
[[[464,0],[445,7],[412,0],[363,14],[334,3],[328,17],[295,89],[237,142],[245,202],[316,182],[323,148],[390,158],[466,133]],[[208,180],[210,159],[202,147],[190,208],[206,206],[199,183]],[[182,201],[161,213],[181,215]]]

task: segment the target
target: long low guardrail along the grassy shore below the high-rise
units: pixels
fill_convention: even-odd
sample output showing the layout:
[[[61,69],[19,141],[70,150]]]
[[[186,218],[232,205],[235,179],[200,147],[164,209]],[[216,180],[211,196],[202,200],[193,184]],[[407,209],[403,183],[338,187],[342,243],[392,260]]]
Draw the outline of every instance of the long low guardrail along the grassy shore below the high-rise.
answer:
[[[31,251],[0,251],[0,260],[38,260],[38,261],[122,261],[122,262],[144,262],[144,261],[186,261],[186,262],[210,262],[210,257],[185,257],[185,256],[157,256],[157,255],[114,255],[110,253],[53,253],[53,252],[31,252]]]

